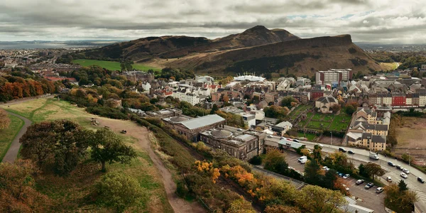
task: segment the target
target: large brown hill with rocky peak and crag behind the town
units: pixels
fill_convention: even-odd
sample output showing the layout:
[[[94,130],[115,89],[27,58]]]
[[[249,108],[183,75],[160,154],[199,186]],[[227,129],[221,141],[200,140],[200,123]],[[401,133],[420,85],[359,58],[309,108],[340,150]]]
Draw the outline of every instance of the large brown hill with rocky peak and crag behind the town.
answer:
[[[88,50],[77,58],[133,60],[158,67],[228,75],[238,72],[280,72],[313,75],[315,70],[351,68],[382,70],[350,35],[302,39],[283,29],[255,26],[223,38],[162,36]]]

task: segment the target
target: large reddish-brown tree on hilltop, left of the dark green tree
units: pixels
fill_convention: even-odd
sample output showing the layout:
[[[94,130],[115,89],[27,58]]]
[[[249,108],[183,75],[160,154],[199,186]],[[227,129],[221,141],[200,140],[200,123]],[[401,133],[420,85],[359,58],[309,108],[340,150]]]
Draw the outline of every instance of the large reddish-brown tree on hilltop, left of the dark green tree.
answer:
[[[60,175],[70,173],[88,147],[89,131],[69,120],[44,121],[28,127],[19,140],[21,156],[40,166],[53,167]]]

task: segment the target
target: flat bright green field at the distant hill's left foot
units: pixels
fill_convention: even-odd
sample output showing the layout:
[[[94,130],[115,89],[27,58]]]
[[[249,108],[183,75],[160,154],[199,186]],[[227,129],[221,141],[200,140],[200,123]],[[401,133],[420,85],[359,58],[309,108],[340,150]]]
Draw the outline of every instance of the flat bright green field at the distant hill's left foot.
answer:
[[[75,64],[82,65],[83,67],[88,67],[90,65],[98,65],[99,67],[104,67],[107,70],[121,70],[120,62],[116,62],[116,61],[76,59],[76,60],[72,60],[72,62]],[[161,70],[158,67],[150,67],[143,64],[133,64],[133,69],[142,70],[142,71],[148,71],[150,69],[154,71]]]

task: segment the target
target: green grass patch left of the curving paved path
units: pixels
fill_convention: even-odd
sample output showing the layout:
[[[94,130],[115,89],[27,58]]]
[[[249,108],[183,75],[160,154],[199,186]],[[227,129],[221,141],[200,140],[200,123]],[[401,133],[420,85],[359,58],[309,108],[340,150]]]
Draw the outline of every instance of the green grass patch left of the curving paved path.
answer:
[[[15,138],[16,134],[23,126],[23,120],[20,118],[9,115],[9,119],[11,119],[9,127],[0,130],[0,162],[3,160],[4,155],[6,155],[6,152],[11,146],[13,138]]]

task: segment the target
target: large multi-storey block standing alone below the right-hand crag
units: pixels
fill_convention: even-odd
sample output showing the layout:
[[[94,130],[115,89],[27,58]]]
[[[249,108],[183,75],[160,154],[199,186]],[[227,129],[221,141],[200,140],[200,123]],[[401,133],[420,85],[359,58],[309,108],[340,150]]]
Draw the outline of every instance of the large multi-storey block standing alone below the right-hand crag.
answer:
[[[327,71],[317,71],[315,81],[317,84],[340,84],[342,81],[352,80],[351,69],[330,69]]]

